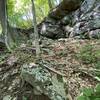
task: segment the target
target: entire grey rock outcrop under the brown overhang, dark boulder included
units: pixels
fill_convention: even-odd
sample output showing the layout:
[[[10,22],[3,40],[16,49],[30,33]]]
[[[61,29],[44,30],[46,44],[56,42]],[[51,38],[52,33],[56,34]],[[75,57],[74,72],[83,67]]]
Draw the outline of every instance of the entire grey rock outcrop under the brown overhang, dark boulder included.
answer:
[[[100,0],[84,0],[78,10],[66,13],[61,20],[47,17],[40,30],[42,36],[52,39],[100,38]]]

